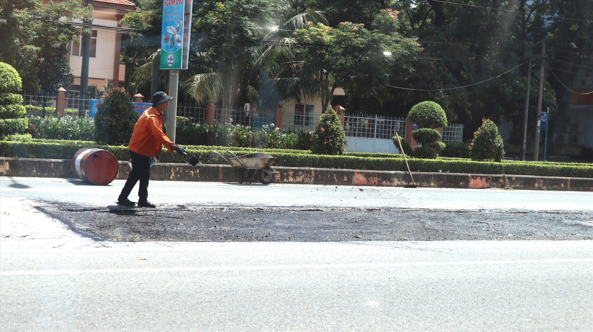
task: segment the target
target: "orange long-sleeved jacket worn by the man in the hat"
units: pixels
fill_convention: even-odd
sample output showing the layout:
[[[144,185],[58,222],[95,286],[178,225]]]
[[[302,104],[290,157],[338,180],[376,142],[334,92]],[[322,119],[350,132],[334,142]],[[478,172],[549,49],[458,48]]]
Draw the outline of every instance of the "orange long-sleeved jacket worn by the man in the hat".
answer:
[[[146,109],[134,126],[128,149],[152,158],[161,154],[162,146],[173,152],[168,143],[173,142],[162,132],[161,113],[154,107]]]

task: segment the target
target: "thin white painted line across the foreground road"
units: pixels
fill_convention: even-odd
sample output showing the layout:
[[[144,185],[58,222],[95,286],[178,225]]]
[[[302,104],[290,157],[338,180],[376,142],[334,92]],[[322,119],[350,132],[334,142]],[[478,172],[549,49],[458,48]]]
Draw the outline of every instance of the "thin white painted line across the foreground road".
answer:
[[[154,267],[145,269],[92,269],[92,270],[37,270],[2,271],[2,276],[14,275],[62,275],[77,273],[130,273],[130,272],[199,272],[199,271],[244,271],[244,270],[287,270],[287,269],[350,269],[357,267],[400,267],[433,265],[493,265],[525,263],[582,263],[593,262],[593,258],[576,259],[525,259],[525,260],[470,260],[461,262],[399,262],[358,264],[312,264],[312,265],[254,265],[254,266],[196,266],[196,267]]]

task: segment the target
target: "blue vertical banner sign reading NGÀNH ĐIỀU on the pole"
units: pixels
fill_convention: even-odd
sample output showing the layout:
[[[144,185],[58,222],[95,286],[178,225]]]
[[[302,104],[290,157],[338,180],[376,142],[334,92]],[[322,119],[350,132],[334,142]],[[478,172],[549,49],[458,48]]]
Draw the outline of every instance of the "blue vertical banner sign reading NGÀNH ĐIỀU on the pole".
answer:
[[[183,0],[162,1],[160,69],[181,69],[184,7]]]

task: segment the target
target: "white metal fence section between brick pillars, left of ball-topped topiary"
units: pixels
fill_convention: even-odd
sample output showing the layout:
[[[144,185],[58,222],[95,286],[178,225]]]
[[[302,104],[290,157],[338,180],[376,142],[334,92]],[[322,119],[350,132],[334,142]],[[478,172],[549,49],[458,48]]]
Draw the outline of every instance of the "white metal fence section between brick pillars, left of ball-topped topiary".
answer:
[[[390,140],[396,136],[406,137],[406,118],[379,115],[346,114],[344,130],[347,137],[380,138]]]

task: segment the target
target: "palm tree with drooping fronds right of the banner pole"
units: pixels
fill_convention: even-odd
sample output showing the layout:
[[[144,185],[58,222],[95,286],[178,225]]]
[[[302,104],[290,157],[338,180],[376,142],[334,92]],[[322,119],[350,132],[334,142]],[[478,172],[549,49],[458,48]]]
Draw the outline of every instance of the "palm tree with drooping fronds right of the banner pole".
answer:
[[[306,17],[325,21],[319,11],[298,14],[279,27],[300,28]],[[191,76],[182,83],[187,96],[199,104],[220,101],[222,107],[250,104],[258,112],[272,112],[283,101],[325,97],[329,89],[320,80],[305,75],[292,49],[296,41],[274,37],[279,29],[260,28],[253,31],[261,40],[256,46],[246,46],[240,61],[220,63],[218,70]]]

